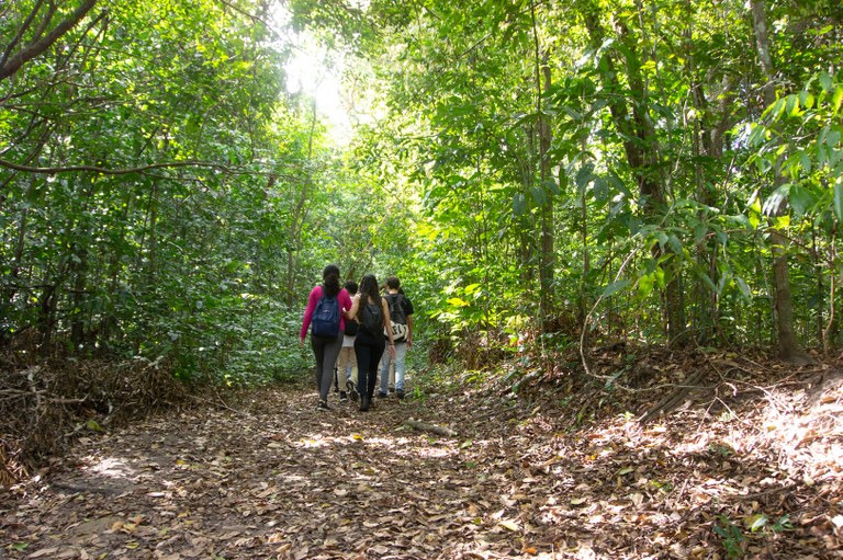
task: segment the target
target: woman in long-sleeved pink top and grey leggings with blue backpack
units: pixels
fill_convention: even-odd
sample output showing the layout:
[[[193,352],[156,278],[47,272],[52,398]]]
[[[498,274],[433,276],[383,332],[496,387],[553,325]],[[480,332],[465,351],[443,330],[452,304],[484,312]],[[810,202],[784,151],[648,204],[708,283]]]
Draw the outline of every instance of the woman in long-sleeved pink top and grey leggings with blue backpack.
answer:
[[[339,350],[342,347],[342,332],[346,330],[346,312],[351,309],[351,297],[345,288],[339,285],[339,267],[336,264],[325,266],[322,272],[323,283],[311,290],[307,298],[307,308],[304,310],[304,320],[302,330],[299,333],[299,342],[304,347],[304,339],[307,336],[307,329],[311,327],[313,311],[322,299],[336,298],[339,305],[339,334],[336,338],[325,338],[311,334],[311,346],[316,356],[316,388],[319,391],[319,410],[330,410],[328,407],[328,391],[334,381],[334,366],[337,363]]]

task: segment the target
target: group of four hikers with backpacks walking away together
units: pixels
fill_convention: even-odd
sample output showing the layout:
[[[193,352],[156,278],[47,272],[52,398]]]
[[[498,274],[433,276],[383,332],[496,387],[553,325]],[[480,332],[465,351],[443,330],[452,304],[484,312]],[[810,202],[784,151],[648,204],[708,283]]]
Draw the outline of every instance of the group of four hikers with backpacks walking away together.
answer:
[[[378,396],[387,397],[392,386],[395,396],[403,399],[407,350],[413,345],[413,304],[401,282],[395,276],[386,278],[381,295],[372,274],[363,276],[359,286],[353,281],[340,286],[339,267],[329,264],[322,277],[323,283],[314,286],[307,298],[299,334],[304,346],[311,331],[317,408],[330,410],[328,395],[335,375],[340,402],[359,398],[361,411],[372,407],[379,370]]]

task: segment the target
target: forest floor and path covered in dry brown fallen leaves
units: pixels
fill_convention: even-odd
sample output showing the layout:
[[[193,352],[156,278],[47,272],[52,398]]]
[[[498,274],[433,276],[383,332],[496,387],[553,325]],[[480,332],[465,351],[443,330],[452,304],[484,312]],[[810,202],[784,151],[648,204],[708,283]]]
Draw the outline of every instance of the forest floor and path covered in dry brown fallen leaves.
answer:
[[[696,367],[650,359],[610,404],[498,377],[326,412],[288,386],[91,432],[0,493],[0,557],[843,558],[839,370],[718,356],[642,424]]]

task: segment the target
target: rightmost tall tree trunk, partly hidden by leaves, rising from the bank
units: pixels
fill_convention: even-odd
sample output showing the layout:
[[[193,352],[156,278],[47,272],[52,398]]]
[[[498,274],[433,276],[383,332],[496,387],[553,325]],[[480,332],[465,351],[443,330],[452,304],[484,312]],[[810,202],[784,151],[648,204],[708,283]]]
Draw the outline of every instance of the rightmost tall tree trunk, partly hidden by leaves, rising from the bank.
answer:
[[[758,61],[764,72],[766,82],[762,89],[764,104],[769,106],[776,101],[775,67],[769,54],[769,38],[767,36],[766,4],[764,0],[750,0],[752,12],[752,27],[755,32],[755,49]],[[777,164],[773,188],[784,184],[784,176]],[[775,210],[776,216],[784,213],[784,203]],[[773,243],[773,282],[775,283],[774,306],[776,311],[778,352],[779,356],[791,363],[810,363],[810,356],[802,350],[794,330],[794,304],[790,297],[790,278],[787,271],[787,238],[776,229],[775,224],[771,228],[771,241]]]

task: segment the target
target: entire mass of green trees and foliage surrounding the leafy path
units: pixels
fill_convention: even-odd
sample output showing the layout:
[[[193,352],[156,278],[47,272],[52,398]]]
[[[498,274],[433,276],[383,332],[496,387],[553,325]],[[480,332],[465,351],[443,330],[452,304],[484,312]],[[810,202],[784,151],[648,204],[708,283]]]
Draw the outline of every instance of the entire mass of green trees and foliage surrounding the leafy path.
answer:
[[[350,60],[349,146],[263,2],[0,8],[18,359],[295,375],[328,262],[401,276],[441,340],[840,346],[839,2],[289,9]]]

